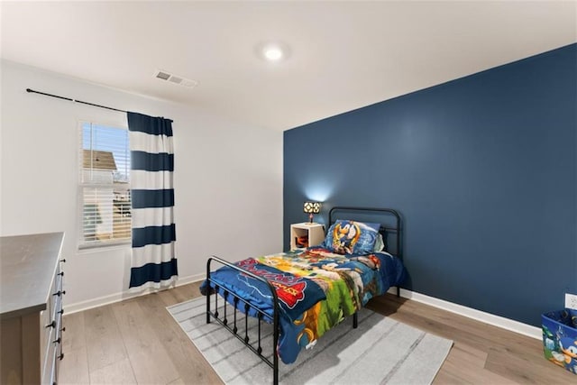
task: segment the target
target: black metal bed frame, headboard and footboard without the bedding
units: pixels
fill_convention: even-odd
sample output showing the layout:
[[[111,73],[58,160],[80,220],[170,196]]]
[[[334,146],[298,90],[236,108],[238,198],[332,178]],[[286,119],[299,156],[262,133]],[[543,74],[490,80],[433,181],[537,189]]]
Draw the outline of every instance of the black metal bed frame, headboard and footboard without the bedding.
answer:
[[[401,242],[400,242],[400,233],[401,233],[401,220],[400,220],[400,215],[398,214],[398,212],[396,210],[393,210],[391,208],[366,208],[366,207],[348,207],[348,206],[335,206],[333,208],[331,208],[331,210],[329,211],[328,214],[328,223],[329,226],[333,225],[335,219],[334,219],[334,215],[336,212],[338,211],[347,211],[349,213],[353,213],[353,212],[358,212],[358,213],[387,213],[390,215],[394,215],[396,218],[396,225],[394,227],[387,227],[387,226],[383,226],[381,225],[380,227],[380,233],[384,234],[384,236],[387,236],[387,233],[395,233],[396,234],[396,246],[397,246],[397,253],[395,254],[398,258],[401,258],[402,261],[402,247],[401,247]],[[327,229],[328,229],[327,227]],[[328,230],[326,230],[328,231]],[[385,243],[388,244],[388,243]],[[389,248],[387,247],[387,251],[389,251]],[[211,274],[211,262],[215,261],[221,265],[224,266],[228,266],[231,269],[234,270],[238,270],[239,272],[246,274],[250,277],[252,277],[255,280],[260,280],[261,282],[265,283],[268,288],[270,289],[270,294],[271,297],[273,298],[273,316],[269,316],[268,314],[266,314],[264,311],[262,311],[260,308],[252,306],[248,301],[246,301],[245,299],[239,297],[238,295],[236,295],[234,293],[234,291],[230,290],[230,289],[225,289],[221,286],[219,286],[214,280],[211,280],[210,278],[210,274]],[[208,258],[208,261],[206,261],[206,282],[208,283],[208,291],[206,293],[206,324],[210,324],[211,322],[211,318],[214,318],[216,322],[218,322],[220,325],[223,325],[229,332],[231,332],[236,338],[238,338],[244,345],[246,345],[251,351],[252,353],[255,353],[259,358],[261,358],[261,360],[263,362],[265,362],[266,364],[268,364],[270,366],[270,368],[272,368],[273,374],[272,374],[272,383],[274,385],[278,385],[279,383],[279,354],[277,353],[277,345],[279,344],[279,298],[277,296],[277,291],[274,288],[274,286],[268,281],[265,280],[262,277],[259,277],[258,275],[252,273],[251,271],[248,270],[244,270],[243,268],[240,268],[236,265],[234,265],[233,263],[229,262],[229,261],[224,261],[222,258],[216,257],[215,255],[211,256]],[[214,289],[210,289],[211,286],[215,286]],[[215,311],[211,310],[211,301],[210,301],[210,296],[211,294],[215,294]],[[223,318],[221,319],[219,316],[221,316],[221,314],[219,314],[218,311],[218,296],[221,295],[224,299],[224,305],[222,307],[222,309],[224,310],[224,315]],[[397,287],[397,297],[399,297],[400,295],[400,288]],[[228,315],[227,315],[227,311],[226,311],[226,302],[228,300],[228,298],[232,298],[232,306],[234,307],[234,314],[233,316],[233,320],[232,320],[232,326],[231,326],[231,320],[229,320]],[[230,302],[229,302],[230,303]],[[237,325],[237,312],[239,311],[239,305],[242,307],[242,309],[240,311],[243,311],[243,313],[245,314],[244,316],[244,335],[239,335],[237,332],[239,331],[238,325]],[[258,334],[258,338],[255,342],[252,342],[251,337],[248,335],[248,314],[249,314],[249,310],[252,309],[254,312],[256,312],[257,316],[257,320],[258,320],[258,327],[257,327],[257,334]],[[356,328],[358,325],[358,312],[355,312],[353,314],[353,328]],[[270,324],[272,324],[272,330],[273,330],[273,337],[272,337],[272,362],[270,361],[269,358],[267,358],[265,355],[262,354],[262,347],[261,347],[261,322],[264,320],[264,322],[267,322],[266,320],[268,320]]]

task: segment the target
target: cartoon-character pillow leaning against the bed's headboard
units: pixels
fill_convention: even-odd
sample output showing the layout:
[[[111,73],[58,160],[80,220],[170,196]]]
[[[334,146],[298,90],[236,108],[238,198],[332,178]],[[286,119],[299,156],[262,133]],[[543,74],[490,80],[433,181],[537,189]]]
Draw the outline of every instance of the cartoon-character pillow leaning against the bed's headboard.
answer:
[[[379,228],[379,224],[339,219],[328,229],[323,247],[339,254],[370,254]]]

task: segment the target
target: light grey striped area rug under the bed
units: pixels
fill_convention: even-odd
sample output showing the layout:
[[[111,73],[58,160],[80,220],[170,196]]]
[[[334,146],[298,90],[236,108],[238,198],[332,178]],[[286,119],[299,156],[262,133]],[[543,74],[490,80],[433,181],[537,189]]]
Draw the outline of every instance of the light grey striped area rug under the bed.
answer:
[[[224,301],[219,302],[222,306]],[[206,298],[195,298],[171,307],[197,349],[226,384],[270,384],[272,369],[215,321],[206,324]],[[227,307],[233,322],[232,307]],[[224,314],[224,309],[219,312]],[[239,334],[244,335],[244,316],[237,313]],[[263,354],[272,355],[272,327],[262,323]],[[249,330],[257,328],[248,319]],[[255,335],[255,334],[252,334]],[[256,338],[256,337],[254,337]],[[359,312],[359,326],[346,319],[302,350],[297,362],[279,363],[281,384],[429,384],[435,379],[453,341],[404,325],[368,309]],[[267,353],[267,348],[269,352]]]

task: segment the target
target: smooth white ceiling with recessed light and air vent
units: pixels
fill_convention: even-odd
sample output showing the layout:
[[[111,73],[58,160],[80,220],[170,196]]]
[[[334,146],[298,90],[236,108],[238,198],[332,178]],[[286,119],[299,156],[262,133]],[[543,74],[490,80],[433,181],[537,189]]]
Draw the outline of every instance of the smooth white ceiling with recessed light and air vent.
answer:
[[[5,60],[274,130],[577,41],[575,1],[0,6]],[[256,47],[265,41],[289,46],[289,58],[262,60]],[[154,78],[157,69],[198,85]]]

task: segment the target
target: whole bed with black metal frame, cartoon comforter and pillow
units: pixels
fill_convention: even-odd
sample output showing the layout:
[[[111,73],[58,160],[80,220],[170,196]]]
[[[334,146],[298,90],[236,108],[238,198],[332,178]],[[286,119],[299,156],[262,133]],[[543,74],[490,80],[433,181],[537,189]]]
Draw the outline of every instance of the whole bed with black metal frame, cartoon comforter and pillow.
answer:
[[[215,320],[266,362],[274,384],[279,359],[294,362],[301,349],[314,347],[349,316],[357,327],[357,311],[391,287],[398,295],[405,279],[396,210],[336,206],[328,219],[319,246],[234,263],[212,256],[206,262],[200,287],[206,323]],[[258,320],[257,327],[248,327],[249,317]],[[272,325],[271,357],[263,354],[262,322]]]

